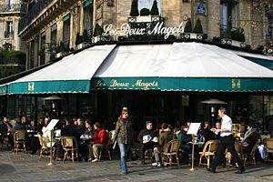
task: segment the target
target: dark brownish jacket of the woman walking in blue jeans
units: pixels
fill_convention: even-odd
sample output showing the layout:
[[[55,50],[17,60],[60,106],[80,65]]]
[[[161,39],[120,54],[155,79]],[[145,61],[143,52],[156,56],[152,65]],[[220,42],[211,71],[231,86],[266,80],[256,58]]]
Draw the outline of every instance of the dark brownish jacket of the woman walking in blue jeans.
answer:
[[[114,141],[119,144],[133,144],[134,143],[134,129],[132,120],[128,119],[126,122],[118,120],[116,122],[116,130]]]

